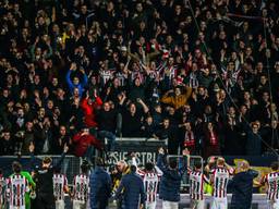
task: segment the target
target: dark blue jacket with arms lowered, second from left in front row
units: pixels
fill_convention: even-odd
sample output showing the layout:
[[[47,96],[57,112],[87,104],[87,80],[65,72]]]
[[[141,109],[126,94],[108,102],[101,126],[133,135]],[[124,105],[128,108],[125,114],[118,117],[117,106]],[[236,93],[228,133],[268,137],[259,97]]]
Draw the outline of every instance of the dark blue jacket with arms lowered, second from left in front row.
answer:
[[[144,204],[146,199],[142,177],[136,173],[124,175],[116,193],[117,198],[121,196],[124,209],[138,209],[140,200]]]

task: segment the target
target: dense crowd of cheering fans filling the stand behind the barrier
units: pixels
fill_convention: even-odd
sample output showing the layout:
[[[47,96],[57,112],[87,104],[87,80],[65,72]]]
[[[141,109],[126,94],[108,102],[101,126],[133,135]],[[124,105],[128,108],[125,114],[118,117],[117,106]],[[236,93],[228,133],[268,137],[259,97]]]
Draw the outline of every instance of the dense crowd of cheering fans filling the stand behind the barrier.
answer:
[[[279,15],[272,0],[0,2],[0,155],[279,148]]]

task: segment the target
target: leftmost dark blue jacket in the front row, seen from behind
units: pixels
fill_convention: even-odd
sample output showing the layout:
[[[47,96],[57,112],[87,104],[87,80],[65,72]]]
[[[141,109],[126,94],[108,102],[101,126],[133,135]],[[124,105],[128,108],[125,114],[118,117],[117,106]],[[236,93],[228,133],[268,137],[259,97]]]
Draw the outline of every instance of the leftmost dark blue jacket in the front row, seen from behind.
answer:
[[[90,174],[90,209],[105,209],[111,195],[111,179],[102,168],[96,167]]]

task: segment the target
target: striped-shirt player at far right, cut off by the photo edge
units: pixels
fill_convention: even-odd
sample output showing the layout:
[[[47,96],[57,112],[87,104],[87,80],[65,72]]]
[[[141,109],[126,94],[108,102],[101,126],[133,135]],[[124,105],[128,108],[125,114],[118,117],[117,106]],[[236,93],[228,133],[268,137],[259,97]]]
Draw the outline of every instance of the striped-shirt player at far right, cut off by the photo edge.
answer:
[[[271,172],[262,179],[262,184],[267,184],[268,209],[279,209],[279,163],[271,163]]]

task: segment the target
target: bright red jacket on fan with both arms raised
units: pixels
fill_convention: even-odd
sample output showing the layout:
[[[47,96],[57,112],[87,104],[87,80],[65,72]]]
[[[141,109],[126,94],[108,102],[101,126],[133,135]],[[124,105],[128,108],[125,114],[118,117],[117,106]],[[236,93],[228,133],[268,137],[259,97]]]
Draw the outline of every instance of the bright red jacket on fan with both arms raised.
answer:
[[[93,102],[92,104],[88,104],[87,98],[82,100],[81,107],[84,112],[84,123],[86,124],[87,127],[97,126],[97,122],[95,120],[95,108],[101,104],[102,104],[102,101],[99,97],[96,97],[95,102]]]

